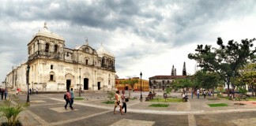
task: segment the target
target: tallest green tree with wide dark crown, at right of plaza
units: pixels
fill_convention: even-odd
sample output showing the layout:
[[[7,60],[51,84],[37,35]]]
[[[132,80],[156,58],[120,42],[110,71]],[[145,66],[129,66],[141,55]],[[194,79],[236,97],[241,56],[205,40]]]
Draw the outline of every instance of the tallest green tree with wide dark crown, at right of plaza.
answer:
[[[241,66],[247,65],[248,61],[254,61],[256,52],[253,48],[255,39],[242,39],[241,43],[228,41],[225,46],[221,38],[218,38],[216,43],[218,48],[213,48],[210,45],[198,45],[195,50],[197,53],[188,54],[190,59],[199,62],[199,66],[208,72],[216,72],[221,79],[229,86],[232,76],[238,76],[238,69]]]

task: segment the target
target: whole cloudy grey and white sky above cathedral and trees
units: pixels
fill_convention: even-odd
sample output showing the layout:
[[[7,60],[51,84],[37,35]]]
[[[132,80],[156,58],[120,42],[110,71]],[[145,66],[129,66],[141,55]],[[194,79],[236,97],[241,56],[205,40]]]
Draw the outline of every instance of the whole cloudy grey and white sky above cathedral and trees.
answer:
[[[85,44],[98,50],[103,43],[115,55],[116,74],[120,78],[177,75],[195,72],[198,44],[216,45],[256,36],[254,0],[108,0],[45,1],[2,0],[0,4],[0,81],[13,66],[28,58],[27,44],[43,23],[66,40],[66,47]]]

